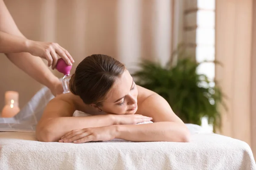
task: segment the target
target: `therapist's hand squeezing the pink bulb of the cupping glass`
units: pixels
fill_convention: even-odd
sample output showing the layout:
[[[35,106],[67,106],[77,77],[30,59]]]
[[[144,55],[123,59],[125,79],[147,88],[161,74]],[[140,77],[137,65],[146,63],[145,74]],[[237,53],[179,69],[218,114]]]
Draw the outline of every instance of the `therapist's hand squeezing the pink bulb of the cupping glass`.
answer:
[[[26,46],[27,51],[33,56],[46,59],[48,67],[52,66],[52,69],[56,67],[58,56],[63,58],[67,65],[72,65],[72,62],[75,62],[69,52],[57,43],[28,40]]]

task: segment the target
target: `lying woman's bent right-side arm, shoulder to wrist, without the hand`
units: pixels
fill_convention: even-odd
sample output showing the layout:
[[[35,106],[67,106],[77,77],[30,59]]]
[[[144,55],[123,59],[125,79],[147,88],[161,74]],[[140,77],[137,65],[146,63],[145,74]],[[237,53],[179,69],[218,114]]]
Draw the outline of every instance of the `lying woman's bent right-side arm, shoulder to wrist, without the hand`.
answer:
[[[153,118],[151,124],[116,125],[116,138],[128,141],[189,142],[190,133],[183,121],[175,115],[168,102],[160,95],[137,86],[138,113]],[[139,105],[139,104],[138,104]]]

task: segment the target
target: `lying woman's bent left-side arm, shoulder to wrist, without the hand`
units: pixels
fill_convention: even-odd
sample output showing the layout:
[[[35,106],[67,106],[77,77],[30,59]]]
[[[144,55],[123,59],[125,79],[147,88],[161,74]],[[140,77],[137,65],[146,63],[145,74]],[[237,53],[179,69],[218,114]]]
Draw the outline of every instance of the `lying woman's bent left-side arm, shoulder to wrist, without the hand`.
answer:
[[[52,99],[38,122],[36,136],[41,142],[56,142],[65,133],[86,127],[109,126],[114,124],[113,116],[97,115],[72,117],[74,111],[80,110],[79,97],[71,93],[61,94]]]

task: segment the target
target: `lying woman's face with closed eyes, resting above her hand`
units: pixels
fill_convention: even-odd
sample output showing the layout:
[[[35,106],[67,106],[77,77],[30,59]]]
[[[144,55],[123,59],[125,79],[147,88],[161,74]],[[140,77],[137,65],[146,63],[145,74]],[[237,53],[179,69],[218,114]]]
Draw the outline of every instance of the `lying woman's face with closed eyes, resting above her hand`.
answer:
[[[128,71],[125,71],[122,77],[116,79],[107,96],[107,100],[99,107],[105,113],[136,113],[138,90]]]

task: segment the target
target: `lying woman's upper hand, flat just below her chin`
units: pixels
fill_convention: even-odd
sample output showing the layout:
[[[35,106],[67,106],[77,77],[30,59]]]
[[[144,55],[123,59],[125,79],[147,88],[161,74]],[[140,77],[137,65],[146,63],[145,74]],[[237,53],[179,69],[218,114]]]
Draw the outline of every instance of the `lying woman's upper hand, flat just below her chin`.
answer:
[[[135,125],[141,122],[151,121],[152,118],[140,114],[113,114],[115,125]]]

